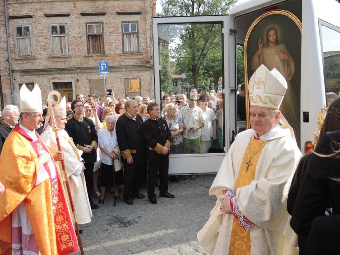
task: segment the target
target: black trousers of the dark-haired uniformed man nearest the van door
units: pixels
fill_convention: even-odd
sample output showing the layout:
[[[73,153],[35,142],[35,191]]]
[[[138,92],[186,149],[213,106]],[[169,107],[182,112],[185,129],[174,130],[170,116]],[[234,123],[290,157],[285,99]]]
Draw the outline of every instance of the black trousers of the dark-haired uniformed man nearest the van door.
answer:
[[[148,177],[147,190],[148,198],[154,198],[155,195],[155,179],[159,171],[159,194],[165,194],[168,191],[168,173],[169,173],[169,158],[164,157],[159,160],[148,160]]]

